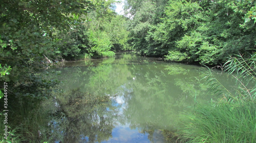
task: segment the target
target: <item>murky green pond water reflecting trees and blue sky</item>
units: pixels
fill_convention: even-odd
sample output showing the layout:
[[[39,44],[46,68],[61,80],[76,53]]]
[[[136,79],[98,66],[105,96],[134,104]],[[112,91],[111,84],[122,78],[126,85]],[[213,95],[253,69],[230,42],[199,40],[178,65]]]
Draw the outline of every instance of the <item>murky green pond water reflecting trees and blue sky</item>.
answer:
[[[177,115],[216,100],[200,81],[207,74],[201,66],[131,52],[65,66],[52,70],[61,74],[52,78],[65,81],[60,88],[66,92],[56,96],[64,115],[54,121],[65,126],[57,131],[65,142],[175,142]],[[218,73],[222,84],[232,85]]]

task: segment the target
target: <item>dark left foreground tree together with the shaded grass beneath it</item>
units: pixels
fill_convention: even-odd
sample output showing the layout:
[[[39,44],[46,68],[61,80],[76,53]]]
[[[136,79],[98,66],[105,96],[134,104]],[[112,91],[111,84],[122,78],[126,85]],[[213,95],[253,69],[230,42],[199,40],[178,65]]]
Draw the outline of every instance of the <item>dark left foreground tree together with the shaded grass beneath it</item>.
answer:
[[[55,89],[55,85],[60,82],[45,80],[36,72],[46,68],[45,63],[51,62],[47,56],[54,53],[56,34],[69,32],[70,28],[86,20],[77,17],[88,15],[99,5],[100,3],[83,0],[1,1],[0,95],[5,97],[0,102],[6,106],[1,106],[0,112],[2,131],[8,126],[8,136],[4,135],[5,131],[2,132],[1,142],[21,142],[24,137],[39,136],[38,128],[42,124],[37,117],[49,118],[49,114],[39,110],[34,112],[37,105],[32,108],[28,106],[49,98],[52,91],[59,91]],[[9,124],[3,122],[6,118],[2,115],[3,108],[13,111],[8,115]],[[15,115],[14,112],[18,114]],[[13,124],[9,122],[11,119]],[[47,122],[44,125],[47,126]],[[32,139],[30,142],[42,141]]]

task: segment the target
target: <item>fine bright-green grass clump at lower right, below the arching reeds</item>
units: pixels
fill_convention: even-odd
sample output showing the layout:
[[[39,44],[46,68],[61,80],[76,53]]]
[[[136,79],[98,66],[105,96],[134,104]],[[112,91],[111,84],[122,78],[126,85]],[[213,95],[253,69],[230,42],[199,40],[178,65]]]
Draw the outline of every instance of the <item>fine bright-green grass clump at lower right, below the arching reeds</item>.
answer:
[[[182,142],[256,142],[256,105],[253,102],[221,102],[201,105],[182,115]]]

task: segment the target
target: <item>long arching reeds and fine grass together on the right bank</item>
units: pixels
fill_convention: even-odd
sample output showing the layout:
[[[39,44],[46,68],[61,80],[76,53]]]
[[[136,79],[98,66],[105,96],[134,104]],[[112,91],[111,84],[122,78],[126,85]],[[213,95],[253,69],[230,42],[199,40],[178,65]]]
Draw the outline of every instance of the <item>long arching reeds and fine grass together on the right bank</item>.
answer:
[[[205,77],[209,91],[223,96],[212,105],[199,105],[180,116],[182,142],[256,142],[255,71],[256,54],[231,57],[226,71],[236,82],[227,90],[212,74]]]

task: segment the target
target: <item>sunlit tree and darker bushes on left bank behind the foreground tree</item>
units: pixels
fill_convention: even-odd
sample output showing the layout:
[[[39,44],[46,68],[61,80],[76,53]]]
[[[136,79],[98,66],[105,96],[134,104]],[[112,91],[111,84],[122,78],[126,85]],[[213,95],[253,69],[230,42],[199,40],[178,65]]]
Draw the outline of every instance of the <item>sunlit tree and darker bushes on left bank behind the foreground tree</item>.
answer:
[[[66,60],[84,59],[84,54],[100,58],[102,52],[128,50],[127,18],[115,12],[116,1],[101,1],[104,5],[88,15],[90,21],[72,27],[67,34],[59,34],[54,46],[55,55]],[[83,17],[80,17],[83,18]],[[78,18],[78,19],[80,19]]]

